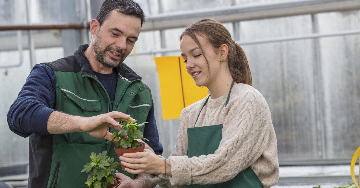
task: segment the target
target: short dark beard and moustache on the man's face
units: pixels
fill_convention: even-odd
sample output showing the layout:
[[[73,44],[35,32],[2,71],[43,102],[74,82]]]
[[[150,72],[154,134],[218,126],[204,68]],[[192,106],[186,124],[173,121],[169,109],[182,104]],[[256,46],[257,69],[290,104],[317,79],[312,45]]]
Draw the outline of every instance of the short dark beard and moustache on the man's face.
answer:
[[[109,68],[116,68],[118,67],[126,58],[125,53],[122,50],[115,50],[112,49],[111,46],[106,47],[104,50],[102,50],[101,46],[101,37],[99,35],[96,36],[96,41],[94,42],[94,51],[95,51],[95,59],[98,60],[102,65]],[[106,56],[108,53],[108,50],[116,51],[118,54],[121,54],[121,59],[116,60],[113,59],[111,56],[109,56],[112,60],[107,60]]]

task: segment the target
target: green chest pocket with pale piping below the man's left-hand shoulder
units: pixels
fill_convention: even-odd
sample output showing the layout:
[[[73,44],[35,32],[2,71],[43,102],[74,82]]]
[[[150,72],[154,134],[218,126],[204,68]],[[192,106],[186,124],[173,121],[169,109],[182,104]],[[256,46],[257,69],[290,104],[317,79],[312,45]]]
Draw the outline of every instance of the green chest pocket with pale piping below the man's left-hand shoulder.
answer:
[[[75,92],[63,88],[61,88],[61,91],[65,94],[64,112],[86,117],[99,115],[101,101],[79,96]]]

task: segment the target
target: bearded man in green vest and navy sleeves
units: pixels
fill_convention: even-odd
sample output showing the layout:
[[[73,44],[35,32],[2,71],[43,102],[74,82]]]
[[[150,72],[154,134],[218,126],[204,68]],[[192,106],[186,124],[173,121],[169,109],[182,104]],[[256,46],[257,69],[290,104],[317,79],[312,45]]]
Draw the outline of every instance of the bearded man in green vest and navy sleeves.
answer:
[[[114,143],[106,139],[120,130],[117,121],[123,118],[149,122],[142,127],[144,137],[161,155],[151,91],[122,63],[144,20],[134,1],[105,0],[90,22],[89,45],[81,45],[74,55],[34,66],[7,115],[14,133],[30,136],[29,188],[86,187],[87,174],[80,172],[91,152],[107,150],[108,156],[118,159]],[[118,170],[119,187],[155,186],[144,174],[135,178]]]

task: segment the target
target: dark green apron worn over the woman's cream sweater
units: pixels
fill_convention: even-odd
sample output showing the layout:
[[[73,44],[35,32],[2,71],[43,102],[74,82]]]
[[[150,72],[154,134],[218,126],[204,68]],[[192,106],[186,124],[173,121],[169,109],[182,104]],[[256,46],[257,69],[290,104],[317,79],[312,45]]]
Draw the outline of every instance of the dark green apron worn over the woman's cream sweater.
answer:
[[[234,81],[231,83],[230,91],[228,94],[228,98],[226,99],[225,106],[228,105],[231,88],[234,86]],[[210,95],[209,95],[210,97]],[[204,105],[202,106],[198,118],[195,121],[198,121],[200,113],[204,106],[207,104],[209,97],[206,99]],[[194,127],[188,128],[188,157],[200,156],[200,155],[208,155],[214,154],[215,151],[219,148],[219,144],[221,141],[221,132],[222,132],[222,124],[219,125],[210,125],[204,127]],[[201,146],[201,147],[198,147]],[[263,188],[260,179],[257,177],[255,172],[248,167],[247,169],[241,171],[238,175],[236,175],[233,179],[213,184],[213,185],[198,185],[191,184],[186,185],[187,188]]]

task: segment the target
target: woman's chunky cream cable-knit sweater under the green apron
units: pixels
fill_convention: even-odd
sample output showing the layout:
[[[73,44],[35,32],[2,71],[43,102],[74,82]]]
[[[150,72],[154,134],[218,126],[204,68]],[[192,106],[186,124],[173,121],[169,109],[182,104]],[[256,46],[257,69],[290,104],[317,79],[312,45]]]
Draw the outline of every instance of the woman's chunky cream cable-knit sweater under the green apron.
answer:
[[[276,136],[269,107],[259,91],[235,84],[225,107],[225,95],[211,99],[201,111],[195,127],[223,124],[222,139],[214,154],[187,157],[187,128],[195,120],[207,97],[183,109],[174,152],[170,155],[172,177],[149,177],[160,187],[185,184],[216,184],[234,178],[248,166],[264,188],[279,178]]]

